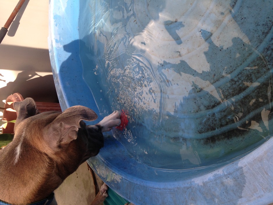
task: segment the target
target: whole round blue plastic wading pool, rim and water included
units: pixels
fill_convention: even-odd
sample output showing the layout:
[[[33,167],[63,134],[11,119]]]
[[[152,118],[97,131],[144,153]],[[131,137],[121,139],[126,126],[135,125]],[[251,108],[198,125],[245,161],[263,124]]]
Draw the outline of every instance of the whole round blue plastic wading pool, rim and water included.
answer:
[[[50,2],[62,109],[128,112],[88,160],[110,188],[134,204],[273,202],[272,6]]]

